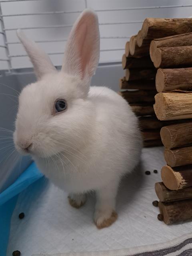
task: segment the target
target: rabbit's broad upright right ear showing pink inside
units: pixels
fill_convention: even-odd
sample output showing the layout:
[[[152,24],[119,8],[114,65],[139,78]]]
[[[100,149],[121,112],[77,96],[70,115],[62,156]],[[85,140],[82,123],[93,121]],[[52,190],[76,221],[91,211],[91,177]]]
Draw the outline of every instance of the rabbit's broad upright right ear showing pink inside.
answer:
[[[82,80],[90,80],[98,66],[99,52],[98,17],[94,11],[86,9],[70,32],[62,70]]]

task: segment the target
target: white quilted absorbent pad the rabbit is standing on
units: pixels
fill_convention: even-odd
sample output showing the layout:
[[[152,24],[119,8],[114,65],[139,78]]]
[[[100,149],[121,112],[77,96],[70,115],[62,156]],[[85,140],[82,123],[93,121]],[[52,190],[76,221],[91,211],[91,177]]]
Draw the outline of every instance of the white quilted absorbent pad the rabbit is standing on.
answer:
[[[94,252],[167,242],[188,234],[192,222],[166,226],[157,220],[154,184],[161,181],[163,148],[144,148],[137,170],[122,181],[117,197],[118,220],[98,230],[93,222],[94,195],[80,209],[68,204],[67,193],[46,180],[32,184],[19,195],[11,222],[7,255],[22,256]],[[153,170],[158,170],[154,174]],[[149,170],[150,175],[145,171]],[[18,214],[25,213],[20,220]]]

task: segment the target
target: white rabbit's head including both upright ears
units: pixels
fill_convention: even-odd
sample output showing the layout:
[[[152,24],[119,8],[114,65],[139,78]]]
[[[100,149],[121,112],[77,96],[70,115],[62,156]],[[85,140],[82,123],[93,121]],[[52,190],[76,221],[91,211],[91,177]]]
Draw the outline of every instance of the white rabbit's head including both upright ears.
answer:
[[[65,145],[81,146],[92,125],[93,107],[88,98],[90,80],[99,60],[98,18],[82,12],[70,32],[62,70],[21,30],[17,32],[38,81],[19,96],[14,143],[22,154],[48,157]]]

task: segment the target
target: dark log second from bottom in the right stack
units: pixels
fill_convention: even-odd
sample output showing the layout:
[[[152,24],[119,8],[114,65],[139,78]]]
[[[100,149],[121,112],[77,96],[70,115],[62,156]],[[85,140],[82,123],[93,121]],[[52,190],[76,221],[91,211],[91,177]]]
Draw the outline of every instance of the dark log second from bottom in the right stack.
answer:
[[[161,202],[173,202],[184,199],[192,199],[192,188],[183,188],[180,190],[170,190],[166,188],[163,182],[155,183],[155,192]]]

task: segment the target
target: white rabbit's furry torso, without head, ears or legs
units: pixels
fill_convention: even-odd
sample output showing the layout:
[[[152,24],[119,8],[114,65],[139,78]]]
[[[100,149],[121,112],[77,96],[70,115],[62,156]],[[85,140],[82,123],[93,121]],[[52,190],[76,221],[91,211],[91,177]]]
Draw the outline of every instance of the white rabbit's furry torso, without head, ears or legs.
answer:
[[[64,139],[62,152],[53,159],[34,157],[40,170],[69,193],[119,183],[140,158],[138,121],[127,102],[116,92],[97,86],[90,87],[87,101],[90,115],[82,138],[72,143]]]

